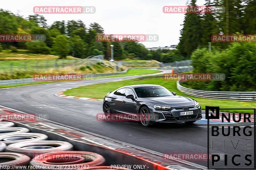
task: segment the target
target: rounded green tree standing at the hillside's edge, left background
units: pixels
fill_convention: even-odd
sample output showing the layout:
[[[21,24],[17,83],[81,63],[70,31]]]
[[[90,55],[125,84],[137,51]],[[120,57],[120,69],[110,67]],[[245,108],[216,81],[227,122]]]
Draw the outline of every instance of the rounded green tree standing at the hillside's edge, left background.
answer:
[[[58,35],[53,42],[52,50],[60,58],[66,58],[69,52],[68,38],[65,35]]]

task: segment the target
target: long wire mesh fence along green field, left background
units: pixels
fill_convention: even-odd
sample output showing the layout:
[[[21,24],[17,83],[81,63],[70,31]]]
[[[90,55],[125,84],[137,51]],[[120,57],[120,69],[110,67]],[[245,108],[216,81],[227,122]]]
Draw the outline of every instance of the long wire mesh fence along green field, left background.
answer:
[[[64,67],[71,67],[74,70],[81,65],[91,66],[97,62],[103,62],[104,55],[92,56],[86,59],[57,59],[57,60],[43,60],[43,61],[1,61],[0,72],[5,74],[13,74],[15,72],[35,72],[44,71],[48,69],[60,69]]]

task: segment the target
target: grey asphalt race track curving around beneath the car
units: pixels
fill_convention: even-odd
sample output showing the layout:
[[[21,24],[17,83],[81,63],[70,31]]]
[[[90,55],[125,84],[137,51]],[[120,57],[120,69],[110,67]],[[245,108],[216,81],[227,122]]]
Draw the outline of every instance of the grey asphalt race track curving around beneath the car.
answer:
[[[192,126],[185,123],[169,123],[157,124],[150,128],[142,127],[139,122],[97,121],[96,114],[103,113],[102,102],[56,95],[72,87],[110,81],[116,84],[118,82],[115,81],[118,80],[138,77],[142,76],[88,79],[0,89],[0,105],[160,153],[207,153],[207,122],[205,120],[197,121]],[[214,103],[209,105],[214,106]],[[221,139],[217,142],[221,144]],[[229,154],[240,152],[244,152],[242,147],[228,151]],[[205,160],[191,162],[207,166]]]

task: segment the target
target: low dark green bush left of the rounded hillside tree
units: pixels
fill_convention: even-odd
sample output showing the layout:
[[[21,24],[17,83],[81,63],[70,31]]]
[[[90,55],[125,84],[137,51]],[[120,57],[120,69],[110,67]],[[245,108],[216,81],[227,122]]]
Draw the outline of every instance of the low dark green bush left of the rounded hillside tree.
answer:
[[[26,42],[26,47],[33,54],[50,54],[50,48],[42,41]]]

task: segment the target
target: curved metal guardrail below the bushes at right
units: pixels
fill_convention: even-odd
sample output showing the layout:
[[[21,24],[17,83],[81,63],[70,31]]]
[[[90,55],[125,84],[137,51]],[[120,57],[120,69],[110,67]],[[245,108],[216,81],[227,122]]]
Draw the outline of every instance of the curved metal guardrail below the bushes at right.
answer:
[[[220,100],[243,100],[243,101],[256,101],[256,92],[215,92],[194,90],[180,85],[182,81],[177,81],[177,89],[188,95],[207,98],[207,99],[220,99]]]

